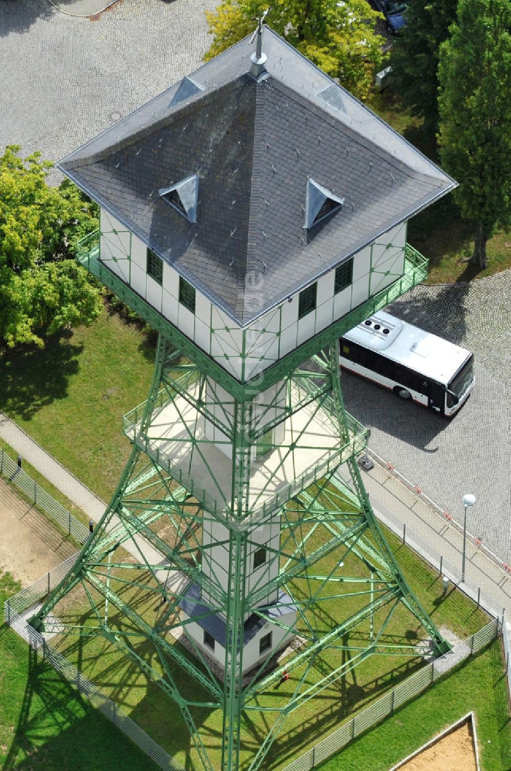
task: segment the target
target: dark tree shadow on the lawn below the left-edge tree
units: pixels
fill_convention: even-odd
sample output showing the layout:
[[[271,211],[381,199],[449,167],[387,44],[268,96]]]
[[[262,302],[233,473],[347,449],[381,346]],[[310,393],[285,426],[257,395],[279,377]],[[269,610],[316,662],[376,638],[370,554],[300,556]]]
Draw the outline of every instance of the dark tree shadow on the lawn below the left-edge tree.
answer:
[[[47,338],[45,348],[34,345],[2,348],[0,409],[29,420],[42,407],[68,395],[69,377],[79,371],[83,345],[70,342],[72,332]]]

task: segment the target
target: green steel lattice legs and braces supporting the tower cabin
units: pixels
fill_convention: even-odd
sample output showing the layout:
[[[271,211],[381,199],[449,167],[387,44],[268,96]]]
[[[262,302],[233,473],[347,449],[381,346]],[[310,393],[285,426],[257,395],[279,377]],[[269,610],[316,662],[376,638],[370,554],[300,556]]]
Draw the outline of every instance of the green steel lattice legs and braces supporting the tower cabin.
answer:
[[[365,310],[362,313],[362,318],[367,312]],[[319,345],[318,338],[315,345]],[[197,351],[194,347],[193,350]],[[419,619],[437,650],[445,649],[446,644],[402,577],[372,513],[355,463],[357,450],[351,438],[355,422],[345,412],[342,399],[337,337],[328,355],[321,353],[315,357],[314,369],[299,367],[291,371],[287,368],[284,373],[287,401],[283,416],[287,419],[311,404],[321,409],[324,419],[335,426],[337,436],[345,446],[349,446],[349,452],[339,459],[339,463],[341,460],[346,463],[353,489],[338,476],[337,463],[327,473],[314,476],[314,483],[305,489],[298,483],[296,491],[290,487],[287,497],[278,501],[273,510],[259,517],[252,517],[250,504],[250,453],[264,429],[272,425],[271,421],[277,423],[274,417],[267,418],[266,414],[275,409],[276,400],[273,397],[262,399],[261,403],[261,400],[257,402],[257,392],[249,393],[247,389],[243,392],[234,389],[233,392],[231,389],[232,420],[226,413],[222,419],[217,420],[217,424],[224,425],[225,419],[226,426],[230,422],[227,427],[232,442],[232,503],[227,504],[226,501],[224,507],[211,510],[207,505],[201,506],[200,501],[197,503],[191,500],[190,496],[197,494],[197,488],[195,491],[190,490],[187,480],[174,474],[173,470],[165,470],[157,453],[150,451],[148,437],[151,436],[153,416],[178,397],[184,396],[187,405],[197,413],[205,416],[220,414],[215,402],[215,399],[220,399],[219,392],[213,387],[211,376],[201,373],[200,355],[194,356],[194,359],[196,365],[176,363],[176,355],[170,351],[168,340],[160,336],[149,399],[127,416],[131,426],[129,431],[133,433],[133,451],[113,500],[96,531],[83,547],[72,571],[49,594],[42,610],[35,616],[35,622],[42,624],[43,619],[55,610],[59,601],[72,588],[82,586],[91,608],[91,623],[66,626],[59,621],[56,629],[66,628],[83,638],[103,635],[122,650],[126,657],[137,662],[143,672],[153,678],[179,705],[197,757],[207,771],[212,769],[211,761],[193,722],[191,706],[214,709],[215,705],[220,705],[223,709],[221,771],[237,771],[239,768],[244,712],[257,709],[260,712],[275,712],[277,719],[268,729],[266,738],[250,764],[250,769],[256,771],[264,762],[274,738],[283,728],[287,715],[339,678],[348,675],[368,656],[419,655],[417,645],[405,645],[400,640],[389,641],[388,625],[399,604],[404,604]],[[207,362],[210,361],[207,357]],[[291,359],[288,359],[289,362]],[[294,362],[299,363],[298,356]],[[214,368],[210,370],[213,375],[217,372]],[[277,369],[272,368],[272,372],[277,372]],[[207,386],[207,382],[212,387]],[[291,383],[293,387],[298,383],[298,396],[294,401],[291,399]],[[218,385],[229,391],[224,382],[218,382]],[[249,384],[246,385],[248,387]],[[197,389],[198,396],[193,389]],[[240,394],[243,399],[238,398]],[[192,433],[189,432],[188,440],[193,444],[194,451],[199,452],[200,442]],[[361,434],[365,442],[363,430]],[[361,445],[362,440],[358,447]],[[307,446],[304,443],[304,452],[307,452]],[[283,446],[281,456],[287,451]],[[142,464],[142,460],[146,463]],[[115,517],[118,519],[115,520]],[[152,529],[160,519],[171,527],[172,541]],[[277,521],[281,532],[278,546],[268,547],[268,563],[278,561],[278,571],[274,577],[253,581],[249,588],[249,553],[254,543],[258,543],[254,530],[270,521]],[[220,572],[215,572],[211,556],[219,544],[213,543],[213,540],[211,543],[203,543],[200,534],[201,524],[205,527],[215,522],[227,528],[228,536],[221,542],[225,547],[228,545],[227,586],[222,583],[224,577],[220,578]],[[161,564],[157,557],[143,556],[137,540],[140,537],[161,555]],[[129,547],[130,544],[132,554],[135,551],[134,563],[126,560],[122,552],[116,553],[118,548]],[[355,557],[367,569],[367,576],[339,573],[338,564],[348,555]],[[328,565],[326,569],[325,564]],[[183,583],[179,584],[179,588],[171,585],[167,591],[162,575],[173,574],[173,571],[179,571]],[[191,582],[199,584],[206,591],[210,598],[207,601],[209,607],[208,611],[182,619],[179,616],[180,602],[192,596],[189,593]],[[350,583],[353,584],[351,587]],[[341,591],[343,586],[347,589],[344,593]],[[291,594],[297,618],[292,625],[278,619],[272,623],[284,635],[282,645],[291,641],[295,635],[301,635],[302,647],[288,653],[285,662],[271,671],[267,660],[261,659],[247,675],[246,682],[242,644],[245,617],[248,613],[264,617],[264,602],[271,591],[280,588]],[[143,618],[143,610],[139,612],[131,599],[120,596],[123,592],[134,596],[139,591],[145,593],[146,598],[155,596],[162,598],[163,603],[166,601],[161,611],[151,611],[149,621]],[[95,600],[93,595],[96,594],[100,601]],[[333,601],[337,608],[343,599],[352,601],[353,607],[358,610],[349,614],[348,618],[340,611],[334,618],[328,609],[328,601]],[[113,624],[113,621],[109,622],[109,605],[115,608],[116,618],[120,616],[125,626],[119,625],[115,629],[109,626],[109,623]],[[214,611],[220,612],[226,624],[223,683],[213,674],[203,651],[190,634],[192,623],[207,618]],[[382,621],[385,612],[387,614]],[[179,646],[166,639],[166,635],[177,626],[183,627],[197,658],[197,665],[194,659],[180,653]],[[348,643],[348,635],[356,628],[359,629],[358,639],[353,644],[351,641]],[[163,676],[136,653],[138,641],[147,641],[154,648],[160,659]],[[329,649],[335,650],[335,655],[340,651],[339,655],[346,654],[348,658],[343,658],[341,664],[336,660],[334,668],[326,672],[321,655]],[[186,693],[180,692],[173,679],[171,667],[174,665],[186,672],[213,698],[208,697],[204,702],[197,699],[188,701]],[[320,677],[311,682],[313,678],[309,678],[309,673],[313,665],[318,667]],[[284,670],[294,673],[297,680],[287,701],[279,708],[254,703],[257,693],[278,682]]]

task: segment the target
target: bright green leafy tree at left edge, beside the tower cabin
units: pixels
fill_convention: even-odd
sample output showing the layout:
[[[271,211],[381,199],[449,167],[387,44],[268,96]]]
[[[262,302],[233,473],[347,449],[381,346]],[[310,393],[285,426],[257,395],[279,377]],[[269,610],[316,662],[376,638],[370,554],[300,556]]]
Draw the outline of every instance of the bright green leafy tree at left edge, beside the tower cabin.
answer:
[[[0,157],[0,340],[42,347],[43,335],[99,315],[99,289],[74,260],[97,207],[67,180],[49,187],[52,163],[40,153],[22,160],[19,150]]]

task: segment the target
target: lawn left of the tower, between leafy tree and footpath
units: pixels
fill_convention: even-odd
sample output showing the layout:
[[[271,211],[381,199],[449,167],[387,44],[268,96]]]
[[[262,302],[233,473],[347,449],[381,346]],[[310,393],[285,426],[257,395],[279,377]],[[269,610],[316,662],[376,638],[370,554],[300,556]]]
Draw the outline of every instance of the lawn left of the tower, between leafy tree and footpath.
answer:
[[[131,448],[123,412],[146,399],[153,358],[137,325],[103,310],[42,351],[4,350],[0,409],[108,501]]]

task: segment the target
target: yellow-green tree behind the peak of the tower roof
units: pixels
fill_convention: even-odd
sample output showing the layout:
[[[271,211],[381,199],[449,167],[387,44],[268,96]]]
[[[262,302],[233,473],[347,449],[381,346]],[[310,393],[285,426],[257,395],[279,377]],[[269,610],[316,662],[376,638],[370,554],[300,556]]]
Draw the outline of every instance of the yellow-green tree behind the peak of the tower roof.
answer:
[[[271,5],[267,22],[304,56],[359,99],[368,96],[383,61],[382,17],[367,0],[224,0],[206,12],[213,43],[205,59],[254,32],[255,19]]]

